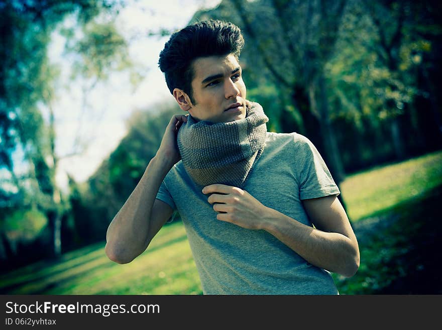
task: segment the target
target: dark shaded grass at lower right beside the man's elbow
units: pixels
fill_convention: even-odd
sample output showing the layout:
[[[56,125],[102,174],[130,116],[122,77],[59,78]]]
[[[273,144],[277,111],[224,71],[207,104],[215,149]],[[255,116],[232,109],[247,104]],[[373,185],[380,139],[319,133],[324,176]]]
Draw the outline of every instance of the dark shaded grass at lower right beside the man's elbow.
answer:
[[[333,274],[341,294],[442,294],[439,233],[442,185],[354,224],[357,274]]]

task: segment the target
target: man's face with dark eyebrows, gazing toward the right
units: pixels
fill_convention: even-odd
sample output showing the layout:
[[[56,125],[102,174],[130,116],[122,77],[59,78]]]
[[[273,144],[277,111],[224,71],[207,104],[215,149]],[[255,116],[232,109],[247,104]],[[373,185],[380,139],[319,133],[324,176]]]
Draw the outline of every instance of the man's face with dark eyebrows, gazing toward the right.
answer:
[[[195,102],[188,111],[195,120],[227,123],[246,117],[246,85],[235,56],[198,58],[193,72]]]

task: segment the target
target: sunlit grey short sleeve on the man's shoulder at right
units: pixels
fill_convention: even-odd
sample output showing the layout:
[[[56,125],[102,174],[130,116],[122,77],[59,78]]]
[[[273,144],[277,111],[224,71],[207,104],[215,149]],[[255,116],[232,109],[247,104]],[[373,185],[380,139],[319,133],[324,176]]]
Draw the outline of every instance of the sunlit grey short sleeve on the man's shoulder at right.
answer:
[[[298,172],[300,199],[339,195],[339,188],[316,147],[305,137],[300,143],[296,155],[296,163],[301,166]]]

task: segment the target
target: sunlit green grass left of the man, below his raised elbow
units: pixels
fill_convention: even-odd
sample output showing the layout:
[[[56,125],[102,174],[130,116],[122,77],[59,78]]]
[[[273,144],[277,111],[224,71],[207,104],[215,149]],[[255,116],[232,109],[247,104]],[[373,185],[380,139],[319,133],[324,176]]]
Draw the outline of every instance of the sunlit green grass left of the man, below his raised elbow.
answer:
[[[195,263],[180,222],[165,226],[133,262],[119,265],[104,243],[0,276],[8,294],[200,294]]]

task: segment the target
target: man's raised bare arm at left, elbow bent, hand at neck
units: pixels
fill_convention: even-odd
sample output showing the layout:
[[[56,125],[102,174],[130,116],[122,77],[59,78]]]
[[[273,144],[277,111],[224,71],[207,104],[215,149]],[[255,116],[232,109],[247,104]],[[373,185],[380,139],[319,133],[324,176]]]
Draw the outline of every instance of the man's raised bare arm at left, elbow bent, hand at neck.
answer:
[[[155,197],[164,177],[180,159],[176,134],[186,121],[185,116],[172,117],[157,154],[107,228],[105,252],[109,259],[120,264],[134,260],[172,214],[172,208]]]

